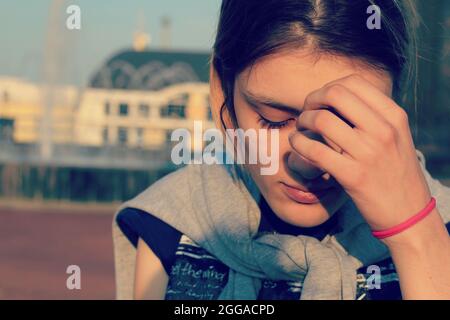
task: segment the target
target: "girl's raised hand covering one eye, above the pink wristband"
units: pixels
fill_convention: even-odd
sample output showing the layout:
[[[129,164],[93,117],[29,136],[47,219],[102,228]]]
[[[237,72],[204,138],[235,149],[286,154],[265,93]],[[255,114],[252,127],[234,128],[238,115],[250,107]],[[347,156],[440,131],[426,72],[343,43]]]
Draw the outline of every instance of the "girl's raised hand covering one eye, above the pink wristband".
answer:
[[[298,153],[290,166],[306,178],[331,174],[372,229],[399,224],[430,200],[405,111],[360,76],[310,93],[289,140]]]

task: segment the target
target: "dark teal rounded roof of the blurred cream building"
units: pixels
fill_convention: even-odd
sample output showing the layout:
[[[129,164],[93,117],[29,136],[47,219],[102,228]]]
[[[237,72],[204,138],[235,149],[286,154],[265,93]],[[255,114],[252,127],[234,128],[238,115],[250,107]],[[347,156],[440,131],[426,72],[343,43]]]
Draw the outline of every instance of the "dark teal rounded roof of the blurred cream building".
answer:
[[[94,73],[90,87],[159,90],[183,82],[208,82],[209,52],[126,50]]]

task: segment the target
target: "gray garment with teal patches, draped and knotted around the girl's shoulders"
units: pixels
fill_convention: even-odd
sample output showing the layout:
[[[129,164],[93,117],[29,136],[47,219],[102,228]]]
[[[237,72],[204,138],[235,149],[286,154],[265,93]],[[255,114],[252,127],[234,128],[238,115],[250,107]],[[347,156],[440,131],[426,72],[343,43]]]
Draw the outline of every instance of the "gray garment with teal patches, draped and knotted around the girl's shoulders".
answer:
[[[425,169],[431,193],[447,223],[450,188]],[[250,179],[251,180],[251,179]],[[255,300],[264,278],[303,281],[301,299],[355,299],[356,270],[389,257],[354,203],[336,214],[337,231],[321,241],[309,236],[258,234],[259,193],[252,181],[237,182],[225,165],[188,165],[147,188],[117,210],[144,210],[191,238],[227,265],[219,299]],[[118,299],[131,299],[135,248],[113,223]]]

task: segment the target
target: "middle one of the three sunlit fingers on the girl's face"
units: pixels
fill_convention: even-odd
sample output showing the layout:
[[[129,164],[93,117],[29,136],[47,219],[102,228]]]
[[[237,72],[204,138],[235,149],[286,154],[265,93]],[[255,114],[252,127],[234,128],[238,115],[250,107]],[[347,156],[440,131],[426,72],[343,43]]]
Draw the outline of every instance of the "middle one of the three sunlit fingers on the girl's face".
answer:
[[[325,109],[302,112],[297,119],[297,128],[319,133],[354,159],[360,158],[367,148],[356,130]]]

